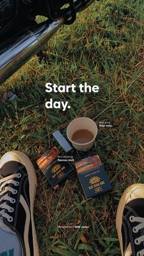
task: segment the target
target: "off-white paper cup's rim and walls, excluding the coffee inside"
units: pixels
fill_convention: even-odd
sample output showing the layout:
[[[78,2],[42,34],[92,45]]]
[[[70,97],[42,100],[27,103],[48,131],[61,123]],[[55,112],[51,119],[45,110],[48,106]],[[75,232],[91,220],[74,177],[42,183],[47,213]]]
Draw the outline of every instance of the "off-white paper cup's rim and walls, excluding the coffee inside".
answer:
[[[81,130],[81,129],[91,131],[91,133],[93,134],[92,141],[84,143],[84,144],[80,144],[80,143],[74,142],[72,140],[72,136],[75,133],[75,131]],[[92,119],[89,119],[88,117],[79,117],[77,119],[74,119],[73,121],[71,121],[69,123],[69,125],[67,127],[67,137],[68,137],[69,141],[71,141],[71,143],[73,144],[73,147],[79,151],[90,150],[90,148],[92,148],[92,146],[95,142],[97,133],[98,133],[98,128],[97,128],[96,123]]]

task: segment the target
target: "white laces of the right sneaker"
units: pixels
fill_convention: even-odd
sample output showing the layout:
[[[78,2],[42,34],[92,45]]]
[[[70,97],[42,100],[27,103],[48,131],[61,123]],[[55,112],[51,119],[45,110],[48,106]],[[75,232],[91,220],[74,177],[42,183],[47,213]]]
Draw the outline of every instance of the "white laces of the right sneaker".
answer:
[[[132,231],[134,233],[137,233],[137,232],[139,232],[139,230],[144,229],[144,218],[130,216],[129,220],[131,222],[139,222],[139,224],[136,225],[135,227],[133,227],[133,229],[132,229]],[[144,242],[144,235],[139,236],[138,238],[135,238],[135,240],[134,240],[134,243],[136,245],[139,245],[142,242]],[[144,249],[142,249],[141,251],[137,252],[137,256],[143,256],[143,255],[144,255]]]

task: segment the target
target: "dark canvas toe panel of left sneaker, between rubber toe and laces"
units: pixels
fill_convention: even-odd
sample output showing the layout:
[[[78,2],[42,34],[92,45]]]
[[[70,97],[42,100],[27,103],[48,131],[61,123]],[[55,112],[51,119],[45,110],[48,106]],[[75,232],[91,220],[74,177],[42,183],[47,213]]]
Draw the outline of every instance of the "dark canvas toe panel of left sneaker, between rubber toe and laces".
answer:
[[[5,163],[0,169],[0,178],[15,174],[16,170],[21,166],[23,166],[23,164],[16,161],[9,161]]]

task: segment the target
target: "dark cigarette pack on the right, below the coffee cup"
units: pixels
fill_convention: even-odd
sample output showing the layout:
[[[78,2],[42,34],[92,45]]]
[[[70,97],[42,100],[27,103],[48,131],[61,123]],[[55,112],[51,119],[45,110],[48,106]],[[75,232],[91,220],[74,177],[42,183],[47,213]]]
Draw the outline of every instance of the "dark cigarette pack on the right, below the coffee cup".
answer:
[[[75,167],[87,199],[112,189],[106,170],[98,155],[77,161]]]

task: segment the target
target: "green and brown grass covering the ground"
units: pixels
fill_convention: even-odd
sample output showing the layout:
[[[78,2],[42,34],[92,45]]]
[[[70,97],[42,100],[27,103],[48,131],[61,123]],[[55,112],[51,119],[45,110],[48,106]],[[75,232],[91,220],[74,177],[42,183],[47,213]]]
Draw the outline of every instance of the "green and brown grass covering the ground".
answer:
[[[35,225],[42,256],[120,255],[117,205],[124,189],[144,181],[143,1],[96,2],[79,13],[72,26],[62,27],[45,51],[48,62],[38,62],[34,56],[1,85],[1,97],[7,90],[18,95],[14,103],[1,103],[1,156],[21,150],[35,166]],[[85,81],[98,85],[100,92],[45,93],[46,82],[79,85]],[[48,110],[49,98],[68,100],[71,109]],[[56,144],[52,131],[59,129],[66,135],[68,123],[79,116],[98,125],[90,153],[100,156],[113,187],[88,202],[76,174],[54,191],[35,164]],[[112,127],[100,127],[100,121],[110,121]],[[88,228],[59,228],[63,225]]]

